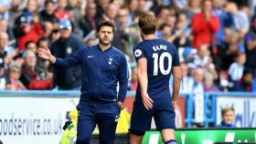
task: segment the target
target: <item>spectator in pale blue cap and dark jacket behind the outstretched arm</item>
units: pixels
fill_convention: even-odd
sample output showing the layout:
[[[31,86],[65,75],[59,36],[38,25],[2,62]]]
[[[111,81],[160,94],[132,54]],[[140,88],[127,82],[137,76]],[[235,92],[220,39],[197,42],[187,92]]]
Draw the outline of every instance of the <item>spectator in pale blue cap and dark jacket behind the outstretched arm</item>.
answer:
[[[59,39],[50,46],[51,53],[60,58],[71,56],[74,51],[84,48],[80,39],[71,35],[72,26],[68,19],[59,21]],[[80,67],[70,67],[62,69],[59,67],[53,68],[54,87],[59,89],[80,89],[81,86],[81,71]]]

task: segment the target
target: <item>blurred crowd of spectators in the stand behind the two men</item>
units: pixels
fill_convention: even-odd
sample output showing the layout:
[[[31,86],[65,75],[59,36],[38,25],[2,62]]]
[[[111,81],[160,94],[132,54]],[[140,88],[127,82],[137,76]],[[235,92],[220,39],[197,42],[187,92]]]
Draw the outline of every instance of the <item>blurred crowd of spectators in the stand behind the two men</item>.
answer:
[[[0,89],[79,89],[80,67],[52,67],[37,57],[37,47],[69,57],[97,44],[97,24],[110,20],[112,45],[127,56],[135,90],[133,46],[142,40],[143,13],[156,15],[156,36],[178,50],[180,92],[256,90],[256,16],[229,0],[1,0]]]

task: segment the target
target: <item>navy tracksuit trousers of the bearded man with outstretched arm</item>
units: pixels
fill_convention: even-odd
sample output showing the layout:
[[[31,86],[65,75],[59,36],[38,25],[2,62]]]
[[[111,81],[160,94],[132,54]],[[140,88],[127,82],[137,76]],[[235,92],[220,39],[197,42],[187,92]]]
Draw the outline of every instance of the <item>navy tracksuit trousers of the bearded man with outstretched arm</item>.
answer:
[[[91,135],[98,125],[100,144],[113,144],[120,115],[116,102],[110,104],[84,104],[78,106],[78,137],[76,144],[90,144]]]

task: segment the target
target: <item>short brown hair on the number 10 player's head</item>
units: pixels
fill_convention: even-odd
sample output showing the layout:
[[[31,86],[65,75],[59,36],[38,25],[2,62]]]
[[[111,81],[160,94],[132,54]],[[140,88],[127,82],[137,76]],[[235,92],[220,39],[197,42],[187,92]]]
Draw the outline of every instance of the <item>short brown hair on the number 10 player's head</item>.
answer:
[[[155,15],[143,14],[139,17],[139,26],[145,35],[155,34],[157,20]]]

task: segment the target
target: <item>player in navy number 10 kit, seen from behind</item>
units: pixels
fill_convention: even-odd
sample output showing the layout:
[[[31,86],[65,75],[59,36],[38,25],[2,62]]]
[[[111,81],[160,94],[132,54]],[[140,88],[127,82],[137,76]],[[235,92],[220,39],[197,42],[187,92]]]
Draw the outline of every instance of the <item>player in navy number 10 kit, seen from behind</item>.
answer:
[[[140,15],[138,25],[144,41],[133,47],[140,85],[133,103],[129,129],[130,143],[142,143],[144,133],[150,130],[151,120],[154,117],[156,129],[161,131],[165,144],[176,144],[174,107],[176,107],[181,80],[176,47],[165,40],[156,38],[157,20],[155,15]],[[162,58],[168,60],[164,63]],[[172,101],[169,90],[171,74],[174,77]]]

